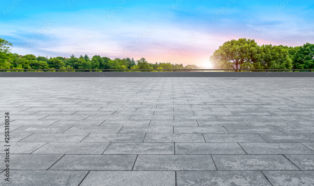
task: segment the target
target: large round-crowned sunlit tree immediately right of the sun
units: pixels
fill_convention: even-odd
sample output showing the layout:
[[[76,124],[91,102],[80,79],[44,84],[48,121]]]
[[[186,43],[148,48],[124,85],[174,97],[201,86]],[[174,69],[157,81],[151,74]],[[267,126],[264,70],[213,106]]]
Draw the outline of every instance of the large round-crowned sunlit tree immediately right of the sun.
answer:
[[[225,42],[210,56],[216,69],[249,69],[256,59],[259,46],[254,39],[239,39]]]

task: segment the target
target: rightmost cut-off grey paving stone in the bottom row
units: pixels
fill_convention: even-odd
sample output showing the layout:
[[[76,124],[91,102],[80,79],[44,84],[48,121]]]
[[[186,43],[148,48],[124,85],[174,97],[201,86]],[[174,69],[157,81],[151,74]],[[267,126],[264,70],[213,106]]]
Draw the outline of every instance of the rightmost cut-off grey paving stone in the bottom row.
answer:
[[[263,171],[273,186],[314,185],[314,171]]]

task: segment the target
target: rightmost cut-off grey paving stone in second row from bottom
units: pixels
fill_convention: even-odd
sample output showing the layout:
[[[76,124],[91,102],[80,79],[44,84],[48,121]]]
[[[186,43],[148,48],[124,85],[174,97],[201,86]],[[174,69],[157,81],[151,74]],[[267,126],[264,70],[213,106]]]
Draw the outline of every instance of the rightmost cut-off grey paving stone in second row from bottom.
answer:
[[[314,170],[314,155],[284,155],[301,170]]]

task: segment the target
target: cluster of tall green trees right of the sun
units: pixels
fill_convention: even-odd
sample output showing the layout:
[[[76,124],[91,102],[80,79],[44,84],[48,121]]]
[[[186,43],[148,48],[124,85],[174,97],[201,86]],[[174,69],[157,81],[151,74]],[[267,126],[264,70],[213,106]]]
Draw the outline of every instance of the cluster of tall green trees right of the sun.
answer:
[[[314,69],[314,44],[260,46],[254,39],[231,40],[210,61],[215,69]]]

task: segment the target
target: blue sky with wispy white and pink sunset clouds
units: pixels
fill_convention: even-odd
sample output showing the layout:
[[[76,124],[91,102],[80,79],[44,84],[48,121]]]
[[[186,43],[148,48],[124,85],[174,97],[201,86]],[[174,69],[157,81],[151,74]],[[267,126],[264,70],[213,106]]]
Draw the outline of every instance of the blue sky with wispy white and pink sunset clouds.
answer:
[[[125,58],[210,67],[226,41],[314,43],[314,1],[3,0],[0,38],[12,53]]]

